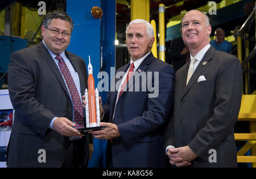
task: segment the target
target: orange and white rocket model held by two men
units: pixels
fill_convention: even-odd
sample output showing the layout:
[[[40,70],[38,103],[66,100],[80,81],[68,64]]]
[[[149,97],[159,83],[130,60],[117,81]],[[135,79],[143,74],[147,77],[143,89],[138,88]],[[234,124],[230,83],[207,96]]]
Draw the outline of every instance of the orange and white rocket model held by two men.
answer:
[[[88,90],[85,89],[85,111],[86,111],[86,128],[100,127],[100,103],[98,101],[98,90],[94,88],[92,64],[88,65]]]

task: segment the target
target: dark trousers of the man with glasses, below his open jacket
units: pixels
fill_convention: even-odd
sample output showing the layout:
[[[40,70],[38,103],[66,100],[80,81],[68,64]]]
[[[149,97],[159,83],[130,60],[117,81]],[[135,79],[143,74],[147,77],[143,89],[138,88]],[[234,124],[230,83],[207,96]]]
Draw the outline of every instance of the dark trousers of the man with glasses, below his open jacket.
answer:
[[[88,150],[85,150],[86,136],[69,141],[68,153],[61,168],[86,168],[88,165]]]

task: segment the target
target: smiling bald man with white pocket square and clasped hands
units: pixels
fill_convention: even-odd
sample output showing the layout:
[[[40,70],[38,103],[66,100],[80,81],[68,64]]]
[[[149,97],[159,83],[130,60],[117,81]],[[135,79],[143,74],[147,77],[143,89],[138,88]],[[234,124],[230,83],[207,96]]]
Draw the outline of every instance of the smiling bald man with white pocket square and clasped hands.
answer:
[[[240,61],[209,45],[207,15],[185,14],[182,38],[191,60],[176,73],[174,116],[164,145],[170,163],[192,167],[236,167],[234,141],[242,95]]]

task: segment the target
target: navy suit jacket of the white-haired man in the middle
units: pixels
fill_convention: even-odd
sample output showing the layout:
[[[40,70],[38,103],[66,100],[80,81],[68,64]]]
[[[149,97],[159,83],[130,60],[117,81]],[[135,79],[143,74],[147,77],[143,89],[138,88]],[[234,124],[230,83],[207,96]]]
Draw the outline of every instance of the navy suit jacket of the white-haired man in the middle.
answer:
[[[122,66],[115,74],[126,72],[129,65]],[[146,74],[148,86],[159,87],[155,89],[158,95],[148,98],[154,91],[143,85],[145,78],[132,77],[134,81],[129,84],[129,90],[126,87],[121,94],[114,115],[117,89],[109,92],[108,102],[103,106],[104,117],[108,122],[117,124],[121,136],[113,138],[112,144],[108,143],[106,161],[110,162],[108,166],[113,164],[113,167],[165,167],[168,160],[163,150],[163,134],[172,111],[174,69],[150,53],[136,72],[141,76]],[[152,72],[152,78],[149,72]],[[121,79],[122,76],[115,78],[112,85],[118,88]],[[136,84],[139,84],[139,91],[134,89],[134,86],[138,88]],[[142,86],[146,90],[143,91]]]

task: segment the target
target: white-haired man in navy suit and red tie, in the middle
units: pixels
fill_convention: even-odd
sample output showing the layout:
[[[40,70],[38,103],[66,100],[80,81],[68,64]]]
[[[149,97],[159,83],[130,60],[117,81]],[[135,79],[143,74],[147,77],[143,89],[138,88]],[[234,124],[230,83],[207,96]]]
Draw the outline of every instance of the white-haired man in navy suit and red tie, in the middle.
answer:
[[[131,60],[115,73],[114,90],[101,108],[105,122],[110,123],[101,122],[104,130],[91,132],[97,139],[110,139],[106,153],[109,167],[168,164],[163,132],[171,115],[174,69],[152,55],[154,40],[154,30],[145,20],[133,20],[127,27]]]

